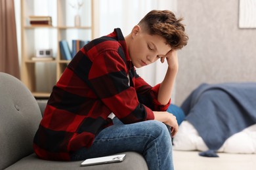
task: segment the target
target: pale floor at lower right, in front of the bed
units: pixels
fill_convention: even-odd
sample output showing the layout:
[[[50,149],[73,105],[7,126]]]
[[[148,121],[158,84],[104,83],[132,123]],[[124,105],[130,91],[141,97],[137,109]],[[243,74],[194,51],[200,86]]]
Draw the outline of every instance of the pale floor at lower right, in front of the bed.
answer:
[[[256,154],[218,153],[219,158],[207,158],[194,151],[173,151],[175,170],[255,170]]]

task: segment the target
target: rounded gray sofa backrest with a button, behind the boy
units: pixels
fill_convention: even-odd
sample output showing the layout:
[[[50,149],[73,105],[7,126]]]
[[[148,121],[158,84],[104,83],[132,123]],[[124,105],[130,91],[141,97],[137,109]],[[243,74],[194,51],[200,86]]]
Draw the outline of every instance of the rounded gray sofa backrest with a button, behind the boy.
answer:
[[[18,78],[0,73],[0,169],[32,154],[41,112]]]

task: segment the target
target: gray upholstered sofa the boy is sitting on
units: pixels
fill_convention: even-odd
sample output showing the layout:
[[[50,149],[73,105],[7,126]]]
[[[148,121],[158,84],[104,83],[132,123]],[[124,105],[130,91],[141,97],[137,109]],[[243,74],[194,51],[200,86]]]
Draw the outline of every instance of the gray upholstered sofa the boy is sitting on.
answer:
[[[42,118],[44,102],[39,105],[20,80],[0,73],[0,169],[148,169],[136,152],[125,152],[121,163],[81,167],[82,161],[40,160],[33,153],[33,136]]]

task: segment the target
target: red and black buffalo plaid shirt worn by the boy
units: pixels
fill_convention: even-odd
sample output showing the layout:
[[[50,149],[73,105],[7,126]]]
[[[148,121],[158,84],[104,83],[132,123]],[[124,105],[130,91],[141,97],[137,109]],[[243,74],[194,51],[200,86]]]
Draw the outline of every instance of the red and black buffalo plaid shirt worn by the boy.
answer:
[[[113,112],[124,124],[153,120],[160,84],[148,85],[130,61],[120,29],[85,45],[53,87],[33,148],[39,158],[70,160],[70,153],[93,144],[112,126]]]

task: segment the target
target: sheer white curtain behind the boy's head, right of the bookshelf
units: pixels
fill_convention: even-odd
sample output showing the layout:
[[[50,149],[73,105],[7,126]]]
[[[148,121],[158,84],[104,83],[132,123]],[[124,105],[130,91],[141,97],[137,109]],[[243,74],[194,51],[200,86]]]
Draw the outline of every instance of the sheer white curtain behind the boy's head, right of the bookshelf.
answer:
[[[177,14],[177,0],[96,0],[95,1],[95,37],[107,35],[120,27],[123,35],[130,33],[134,25],[150,10],[171,10]],[[137,69],[137,73],[154,86],[163,80],[167,63],[157,61]],[[173,92],[174,101],[175,90]]]

